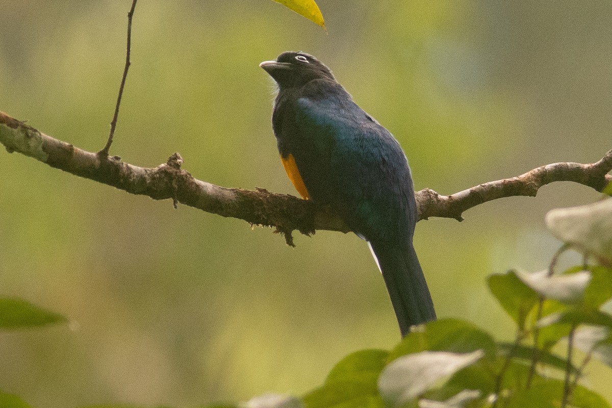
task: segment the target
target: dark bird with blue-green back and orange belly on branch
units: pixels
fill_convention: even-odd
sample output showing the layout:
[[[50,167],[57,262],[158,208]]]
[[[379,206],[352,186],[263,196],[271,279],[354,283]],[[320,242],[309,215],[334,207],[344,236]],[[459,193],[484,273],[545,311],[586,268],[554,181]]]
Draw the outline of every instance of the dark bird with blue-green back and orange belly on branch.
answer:
[[[314,56],[286,51],[259,64],[277,84],[272,130],[303,199],[329,207],[370,247],[400,326],[436,319],[412,237],[417,222],[408,159]]]

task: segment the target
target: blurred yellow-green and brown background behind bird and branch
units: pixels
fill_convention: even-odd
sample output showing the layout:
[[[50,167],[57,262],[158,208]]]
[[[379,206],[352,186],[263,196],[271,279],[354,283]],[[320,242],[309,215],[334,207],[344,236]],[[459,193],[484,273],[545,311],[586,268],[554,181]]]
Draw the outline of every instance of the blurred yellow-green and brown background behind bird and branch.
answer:
[[[295,194],[258,64],[304,50],[398,138],[416,188],[450,194],[612,147],[612,2],[319,0],[327,32],[270,0],[141,0],[111,154],[226,187]],[[87,150],[105,143],[130,1],[0,0],[0,110]],[[440,317],[499,338],[485,278],[538,270],[545,213],[592,202],[557,183],[466,220],[417,225]],[[70,324],[0,332],[0,389],[34,407],[196,406],[300,394],[337,360],[399,333],[365,243],[153,201],[0,152],[0,295]],[[564,258],[570,262],[571,256]],[[610,370],[588,384],[612,398]]]

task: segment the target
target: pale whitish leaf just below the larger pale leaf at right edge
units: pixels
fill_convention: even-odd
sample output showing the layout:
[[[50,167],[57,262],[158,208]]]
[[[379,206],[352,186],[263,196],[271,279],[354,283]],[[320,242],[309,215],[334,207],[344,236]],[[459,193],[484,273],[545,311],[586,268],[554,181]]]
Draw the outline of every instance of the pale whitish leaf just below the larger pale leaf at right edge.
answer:
[[[548,270],[528,273],[517,271],[517,277],[535,292],[564,303],[582,300],[584,291],[591,281],[591,272],[583,270],[563,275],[548,275]]]

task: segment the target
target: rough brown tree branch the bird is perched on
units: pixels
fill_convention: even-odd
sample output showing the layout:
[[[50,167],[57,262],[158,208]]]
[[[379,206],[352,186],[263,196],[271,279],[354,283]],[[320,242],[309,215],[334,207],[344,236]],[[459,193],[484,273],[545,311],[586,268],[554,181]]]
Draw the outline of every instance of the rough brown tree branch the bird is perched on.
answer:
[[[349,232],[343,221],[326,207],[291,195],[274,194],[263,188],[243,190],[225,188],[195,179],[181,169],[178,153],[167,163],[143,168],[121,161],[120,157],[101,155],[79,149],[54,139],[35,128],[0,112],[0,143],[8,152],[20,152],[76,176],[108,184],[128,193],[153,199],[173,199],[206,212],[234,217],[251,224],[274,227],[293,245],[291,232],[313,234],[317,229]],[[573,181],[602,191],[612,182],[612,150],[592,164],[554,163],[511,179],[477,185],[450,196],[426,188],[417,191],[419,220],[444,217],[463,220],[461,214],[483,202],[510,196],[535,196],[542,185],[555,181]]]

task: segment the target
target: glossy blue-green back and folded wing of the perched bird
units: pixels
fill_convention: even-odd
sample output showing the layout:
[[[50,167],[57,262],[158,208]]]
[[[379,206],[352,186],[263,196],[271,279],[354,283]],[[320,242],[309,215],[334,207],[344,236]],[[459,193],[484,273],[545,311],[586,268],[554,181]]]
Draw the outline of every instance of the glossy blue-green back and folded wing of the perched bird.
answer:
[[[341,210],[359,234],[412,234],[408,162],[393,136],[348,94],[296,103],[293,156],[312,199]]]

